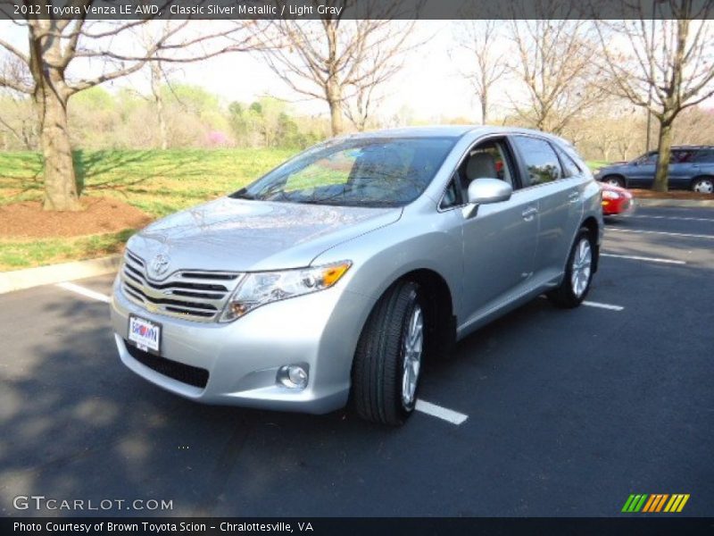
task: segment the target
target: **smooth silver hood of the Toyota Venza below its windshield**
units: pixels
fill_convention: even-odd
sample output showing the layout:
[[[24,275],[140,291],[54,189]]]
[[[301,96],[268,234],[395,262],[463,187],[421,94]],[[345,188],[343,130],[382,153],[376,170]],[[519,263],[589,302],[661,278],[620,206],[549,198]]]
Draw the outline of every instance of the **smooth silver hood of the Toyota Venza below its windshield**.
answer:
[[[170,270],[300,268],[329,247],[394,223],[401,208],[299,205],[221,197],[150,224],[127,247]]]

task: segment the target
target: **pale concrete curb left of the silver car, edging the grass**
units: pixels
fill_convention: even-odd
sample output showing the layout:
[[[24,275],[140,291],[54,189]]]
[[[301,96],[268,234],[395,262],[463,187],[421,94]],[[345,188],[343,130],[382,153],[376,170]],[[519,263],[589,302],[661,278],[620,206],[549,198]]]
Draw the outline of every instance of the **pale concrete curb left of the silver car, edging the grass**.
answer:
[[[88,261],[51,264],[26,270],[0,272],[0,294],[13,290],[30,289],[62,281],[73,281],[95,275],[117,272],[121,255],[109,255]]]

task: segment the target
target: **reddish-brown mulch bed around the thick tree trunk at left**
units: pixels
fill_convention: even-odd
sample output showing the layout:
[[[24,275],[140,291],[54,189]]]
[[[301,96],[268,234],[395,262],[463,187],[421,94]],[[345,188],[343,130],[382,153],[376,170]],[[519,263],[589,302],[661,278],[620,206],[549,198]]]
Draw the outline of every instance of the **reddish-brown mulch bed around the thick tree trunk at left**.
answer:
[[[52,238],[119,232],[144,227],[152,218],[135,206],[106,197],[83,197],[85,210],[54,213],[39,201],[0,206],[0,238]]]

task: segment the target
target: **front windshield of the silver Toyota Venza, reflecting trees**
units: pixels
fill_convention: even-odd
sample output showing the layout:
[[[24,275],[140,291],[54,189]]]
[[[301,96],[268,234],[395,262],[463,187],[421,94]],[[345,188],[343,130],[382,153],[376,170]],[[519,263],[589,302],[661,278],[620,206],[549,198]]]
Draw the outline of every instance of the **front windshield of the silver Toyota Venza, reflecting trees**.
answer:
[[[419,197],[456,138],[340,139],[308,149],[230,197],[316,205],[403,206]]]

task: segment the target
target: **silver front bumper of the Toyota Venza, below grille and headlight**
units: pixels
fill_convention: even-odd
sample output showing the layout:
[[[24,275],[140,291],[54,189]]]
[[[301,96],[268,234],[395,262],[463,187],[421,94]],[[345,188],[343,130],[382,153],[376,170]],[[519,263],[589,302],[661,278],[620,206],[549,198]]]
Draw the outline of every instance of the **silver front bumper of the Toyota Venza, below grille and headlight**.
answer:
[[[354,349],[373,305],[373,298],[336,286],[259,307],[235,322],[191,322],[149,313],[124,297],[115,281],[111,311],[121,361],[163,389],[206,404],[323,414],[347,402]],[[161,323],[158,359],[207,371],[205,387],[158,372],[165,368],[156,366],[157,358],[131,356],[129,349],[137,351],[128,348],[129,314]],[[308,369],[306,388],[277,381],[286,364]]]

